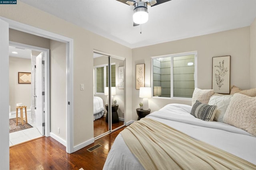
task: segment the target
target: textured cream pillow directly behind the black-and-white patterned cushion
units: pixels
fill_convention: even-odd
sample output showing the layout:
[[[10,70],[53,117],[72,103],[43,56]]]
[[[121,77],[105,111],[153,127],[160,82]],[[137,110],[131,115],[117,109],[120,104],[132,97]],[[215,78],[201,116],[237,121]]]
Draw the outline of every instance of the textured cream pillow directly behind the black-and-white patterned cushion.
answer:
[[[202,90],[195,88],[192,96],[192,106],[196,103],[196,100],[203,104],[208,104],[210,97],[214,94],[214,90]]]

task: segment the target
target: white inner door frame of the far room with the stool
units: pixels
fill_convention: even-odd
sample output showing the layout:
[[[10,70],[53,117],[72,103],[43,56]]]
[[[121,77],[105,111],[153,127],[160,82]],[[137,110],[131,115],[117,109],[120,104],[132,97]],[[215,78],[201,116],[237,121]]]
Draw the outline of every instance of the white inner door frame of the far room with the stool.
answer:
[[[22,43],[16,43],[13,41],[9,41],[9,45],[30,49],[34,51],[40,51],[44,55],[45,59],[45,70],[44,70],[44,80],[45,80],[45,136],[50,136],[50,50],[36,47],[32,45],[22,44]]]

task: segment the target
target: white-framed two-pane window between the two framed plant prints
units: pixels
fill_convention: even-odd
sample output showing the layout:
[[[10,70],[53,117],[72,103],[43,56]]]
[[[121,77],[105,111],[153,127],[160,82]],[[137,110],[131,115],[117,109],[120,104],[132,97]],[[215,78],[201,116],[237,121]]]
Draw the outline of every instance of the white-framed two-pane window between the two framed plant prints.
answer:
[[[152,57],[153,96],[192,98],[196,86],[196,52]]]

